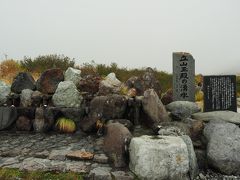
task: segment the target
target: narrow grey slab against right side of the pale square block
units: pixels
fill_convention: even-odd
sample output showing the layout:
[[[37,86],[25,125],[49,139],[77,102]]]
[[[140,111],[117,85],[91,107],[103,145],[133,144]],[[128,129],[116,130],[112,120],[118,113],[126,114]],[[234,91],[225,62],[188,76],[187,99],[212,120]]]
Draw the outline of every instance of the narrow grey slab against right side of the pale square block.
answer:
[[[198,162],[197,162],[197,157],[193,148],[192,140],[190,139],[189,136],[181,136],[185,144],[187,145],[188,149],[188,159],[189,159],[189,174],[190,174],[190,179],[193,180],[197,177],[199,174],[199,169],[198,169]]]

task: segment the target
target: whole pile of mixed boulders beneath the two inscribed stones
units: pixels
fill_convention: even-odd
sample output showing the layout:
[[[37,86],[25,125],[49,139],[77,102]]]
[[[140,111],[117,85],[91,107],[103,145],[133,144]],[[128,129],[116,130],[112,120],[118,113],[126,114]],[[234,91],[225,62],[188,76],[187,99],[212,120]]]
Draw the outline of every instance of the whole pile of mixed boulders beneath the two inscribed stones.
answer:
[[[57,133],[55,124],[64,117],[74,121],[77,132],[102,138],[102,153],[97,156],[82,152],[80,145],[69,153],[66,147],[48,153],[48,159],[28,157],[21,162],[22,169],[35,160],[51,165],[56,158],[61,163],[66,158],[107,157],[111,167],[92,167],[89,177],[129,178],[129,168],[140,179],[199,179],[209,168],[240,174],[240,115],[202,113],[194,102],[172,102],[171,90],[161,96],[151,68],[124,83],[114,73],[82,77],[73,68],[49,69],[36,82],[30,74],[19,73],[11,86],[0,82],[0,92],[0,130]],[[67,163],[65,170],[72,166]]]

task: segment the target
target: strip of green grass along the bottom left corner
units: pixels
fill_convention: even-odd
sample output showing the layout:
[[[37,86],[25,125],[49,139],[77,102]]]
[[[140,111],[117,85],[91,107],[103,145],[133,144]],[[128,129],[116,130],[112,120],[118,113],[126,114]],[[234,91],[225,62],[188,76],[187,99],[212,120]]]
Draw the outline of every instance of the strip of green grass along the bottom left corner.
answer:
[[[42,172],[42,171],[20,171],[18,169],[0,168],[1,180],[83,180],[81,174],[73,172]]]

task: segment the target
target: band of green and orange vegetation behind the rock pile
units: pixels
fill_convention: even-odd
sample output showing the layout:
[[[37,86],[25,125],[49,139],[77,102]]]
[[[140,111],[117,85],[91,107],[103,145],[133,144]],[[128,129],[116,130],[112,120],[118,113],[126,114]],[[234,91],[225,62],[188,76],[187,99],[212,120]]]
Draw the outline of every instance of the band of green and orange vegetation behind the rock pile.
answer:
[[[82,75],[97,74],[102,77],[107,76],[111,72],[115,72],[117,78],[124,82],[132,76],[140,76],[144,73],[145,68],[129,69],[127,67],[119,67],[116,63],[96,64],[94,61],[91,63],[83,63],[76,65],[75,60],[64,55],[44,55],[36,58],[24,57],[23,60],[5,60],[0,63],[0,79],[6,83],[11,83],[12,79],[20,71],[30,72],[34,79],[38,79],[39,75],[50,68],[60,68],[66,70],[68,67],[75,67],[81,69]],[[172,74],[164,71],[159,71],[156,68],[155,76],[160,81],[162,92],[166,92],[172,87]],[[195,78],[196,84],[202,82],[202,75],[199,74]],[[237,95],[240,97],[240,76],[237,77]]]

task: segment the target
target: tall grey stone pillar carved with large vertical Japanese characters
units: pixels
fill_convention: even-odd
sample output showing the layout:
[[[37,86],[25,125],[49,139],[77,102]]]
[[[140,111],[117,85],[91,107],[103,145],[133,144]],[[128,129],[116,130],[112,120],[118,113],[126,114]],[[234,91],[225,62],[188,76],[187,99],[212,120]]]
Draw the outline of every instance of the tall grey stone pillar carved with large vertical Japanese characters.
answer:
[[[186,52],[173,53],[173,100],[195,101],[195,60]]]

